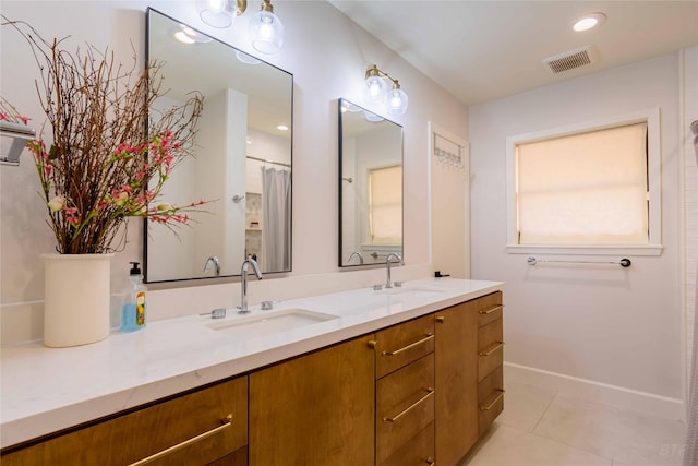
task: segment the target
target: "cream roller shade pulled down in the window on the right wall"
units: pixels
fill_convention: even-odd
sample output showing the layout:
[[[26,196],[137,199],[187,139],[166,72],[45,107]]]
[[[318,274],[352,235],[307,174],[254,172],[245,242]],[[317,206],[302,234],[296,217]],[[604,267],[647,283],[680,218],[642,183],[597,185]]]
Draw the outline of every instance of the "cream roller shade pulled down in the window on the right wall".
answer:
[[[517,146],[520,244],[647,244],[647,124]]]

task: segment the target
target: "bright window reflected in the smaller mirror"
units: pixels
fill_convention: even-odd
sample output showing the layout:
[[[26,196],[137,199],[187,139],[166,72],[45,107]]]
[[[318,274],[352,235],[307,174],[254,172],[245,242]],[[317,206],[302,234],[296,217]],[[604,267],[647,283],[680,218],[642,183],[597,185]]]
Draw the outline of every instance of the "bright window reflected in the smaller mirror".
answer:
[[[402,167],[369,171],[369,229],[373,244],[397,244],[402,239]]]

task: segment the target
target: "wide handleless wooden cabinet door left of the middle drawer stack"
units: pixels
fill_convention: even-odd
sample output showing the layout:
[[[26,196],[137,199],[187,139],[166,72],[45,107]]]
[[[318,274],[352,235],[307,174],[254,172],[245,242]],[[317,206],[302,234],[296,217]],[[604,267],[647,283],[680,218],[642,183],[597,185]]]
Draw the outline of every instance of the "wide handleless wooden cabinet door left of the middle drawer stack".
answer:
[[[374,464],[372,335],[250,375],[250,465]]]

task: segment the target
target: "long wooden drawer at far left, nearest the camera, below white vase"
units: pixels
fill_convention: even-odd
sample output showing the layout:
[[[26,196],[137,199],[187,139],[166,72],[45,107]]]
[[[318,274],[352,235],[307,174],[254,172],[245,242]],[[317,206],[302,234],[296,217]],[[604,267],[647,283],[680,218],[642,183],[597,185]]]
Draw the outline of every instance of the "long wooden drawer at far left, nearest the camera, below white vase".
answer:
[[[123,466],[174,445],[183,446],[148,465],[203,465],[246,443],[243,377],[3,455],[2,465]]]

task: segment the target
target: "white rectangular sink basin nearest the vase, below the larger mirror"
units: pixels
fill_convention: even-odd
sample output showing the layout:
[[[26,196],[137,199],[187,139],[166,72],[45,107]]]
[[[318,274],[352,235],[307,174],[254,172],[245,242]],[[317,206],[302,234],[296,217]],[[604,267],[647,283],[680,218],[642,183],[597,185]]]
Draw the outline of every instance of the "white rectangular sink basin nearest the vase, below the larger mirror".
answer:
[[[285,309],[269,313],[245,315],[224,322],[213,322],[208,324],[208,327],[229,336],[253,338],[333,319],[337,319],[337,316],[306,309]]]

